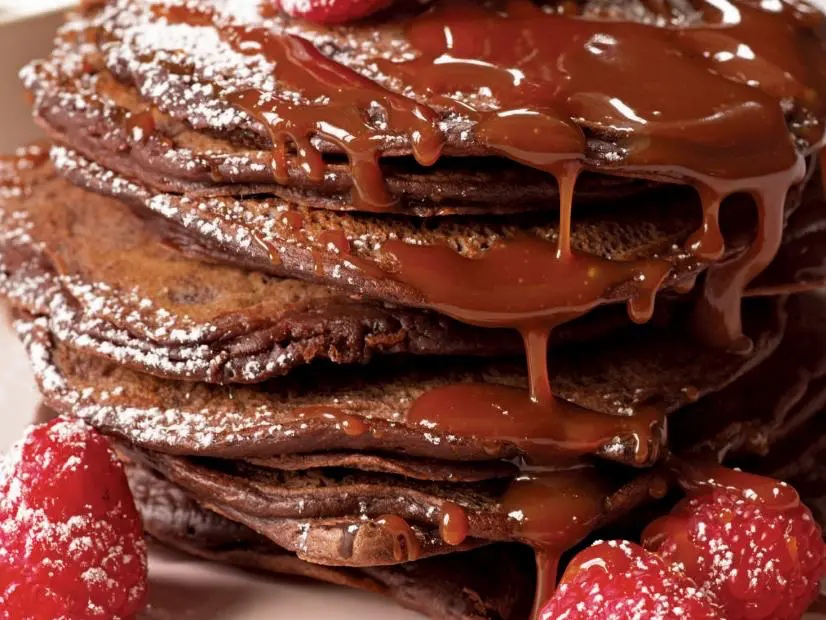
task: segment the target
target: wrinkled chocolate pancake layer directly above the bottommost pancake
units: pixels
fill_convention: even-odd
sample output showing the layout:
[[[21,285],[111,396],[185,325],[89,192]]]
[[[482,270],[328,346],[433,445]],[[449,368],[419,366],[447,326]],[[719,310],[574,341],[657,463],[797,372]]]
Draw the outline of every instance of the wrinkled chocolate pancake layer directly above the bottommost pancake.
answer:
[[[313,563],[382,566],[491,541],[527,542],[521,538],[521,518],[509,504],[511,481],[445,484],[335,469],[276,472],[159,453],[141,453],[137,460],[207,509]],[[544,484],[560,524],[566,523],[565,515],[582,510],[582,498],[595,504],[588,526],[567,541],[573,546],[645,502],[657,476],[646,472],[631,479],[628,472],[582,465],[548,474]],[[441,530],[451,507],[464,515],[460,540]],[[549,534],[564,540],[566,528],[560,529]]]

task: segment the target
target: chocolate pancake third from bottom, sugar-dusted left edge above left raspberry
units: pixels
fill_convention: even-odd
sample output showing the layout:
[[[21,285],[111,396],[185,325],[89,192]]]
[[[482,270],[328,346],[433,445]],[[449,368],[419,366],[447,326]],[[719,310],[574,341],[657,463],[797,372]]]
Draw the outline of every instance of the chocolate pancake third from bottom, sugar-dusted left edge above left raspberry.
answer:
[[[629,328],[593,346],[560,348],[551,360],[554,389],[591,411],[572,412],[583,416],[582,423],[564,431],[572,436],[562,437],[552,417],[514,410],[516,426],[505,436],[524,433],[525,442],[496,432],[485,441],[472,439],[490,432],[484,425],[494,418],[479,409],[470,426],[450,416],[441,419],[447,405],[428,396],[453,384],[493,390],[524,386],[519,364],[427,360],[336,372],[321,366],[257,386],[184,387],[61,344],[46,317],[19,326],[51,406],[151,450],[222,458],[365,450],[490,460],[543,451],[536,441],[550,442],[552,453],[597,452],[635,462],[656,457],[661,414],[720,389],[774,349],[782,332],[775,305],[758,299],[749,305],[751,355],[721,353],[697,345],[680,329],[655,326]],[[483,426],[474,430],[476,423]]]

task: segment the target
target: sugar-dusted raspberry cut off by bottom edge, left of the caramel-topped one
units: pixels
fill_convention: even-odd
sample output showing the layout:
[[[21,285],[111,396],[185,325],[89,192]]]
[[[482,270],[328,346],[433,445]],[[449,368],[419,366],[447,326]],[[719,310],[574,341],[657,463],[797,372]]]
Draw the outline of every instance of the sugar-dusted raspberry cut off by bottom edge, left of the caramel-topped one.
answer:
[[[568,565],[542,620],[718,619],[713,599],[639,545],[596,542]]]

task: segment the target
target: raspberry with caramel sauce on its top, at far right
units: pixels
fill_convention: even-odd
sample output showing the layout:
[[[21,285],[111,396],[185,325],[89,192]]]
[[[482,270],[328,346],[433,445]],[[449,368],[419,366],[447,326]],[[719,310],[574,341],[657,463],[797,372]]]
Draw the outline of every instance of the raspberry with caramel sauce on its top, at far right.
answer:
[[[732,477],[737,486],[711,485],[652,523],[644,544],[712,593],[728,620],[799,620],[826,573],[820,528],[791,487]]]

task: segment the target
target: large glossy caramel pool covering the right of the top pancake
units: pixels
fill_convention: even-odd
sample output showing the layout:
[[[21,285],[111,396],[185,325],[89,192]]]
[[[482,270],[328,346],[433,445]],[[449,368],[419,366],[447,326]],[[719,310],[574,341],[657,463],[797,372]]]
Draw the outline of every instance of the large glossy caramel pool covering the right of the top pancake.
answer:
[[[437,3],[408,24],[416,57],[383,68],[415,91],[445,97],[485,85],[499,107],[466,105],[464,113],[476,120],[483,144],[526,165],[553,172],[579,162],[692,183],[703,225],[687,248],[701,260],[718,260],[725,250],[723,199],[759,194],[756,247],[712,278],[705,304],[715,311],[698,311],[698,324],[710,325],[708,340],[736,347],[743,344],[740,296],[775,247],[784,206],[776,194],[785,196],[802,178],[780,101],[796,100],[822,116],[826,74],[818,61],[822,43],[788,7],[779,15],[734,2],[702,9],[710,25],[672,29],[571,20],[527,0],[496,10]],[[574,118],[596,132],[624,132],[622,155],[590,163]],[[823,124],[800,132],[817,145]],[[770,186],[777,189],[768,196]],[[563,198],[563,217],[565,204]]]

